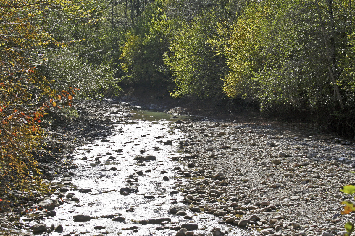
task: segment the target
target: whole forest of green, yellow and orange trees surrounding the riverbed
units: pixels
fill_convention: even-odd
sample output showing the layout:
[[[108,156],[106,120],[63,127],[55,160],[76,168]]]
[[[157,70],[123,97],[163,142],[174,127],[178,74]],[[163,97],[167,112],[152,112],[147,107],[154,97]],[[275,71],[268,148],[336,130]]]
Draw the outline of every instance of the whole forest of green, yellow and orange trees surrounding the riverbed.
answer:
[[[0,1],[0,175],[19,188],[48,112],[130,87],[355,137],[351,0]]]

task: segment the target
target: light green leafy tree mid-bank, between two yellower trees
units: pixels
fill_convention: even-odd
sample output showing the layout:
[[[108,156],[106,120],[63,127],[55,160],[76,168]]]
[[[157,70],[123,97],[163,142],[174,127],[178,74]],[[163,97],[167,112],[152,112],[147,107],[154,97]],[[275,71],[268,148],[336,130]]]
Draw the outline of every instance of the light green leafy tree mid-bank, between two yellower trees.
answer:
[[[217,17],[204,12],[184,23],[165,54],[165,63],[175,76],[173,97],[215,97],[222,94],[225,61],[213,51],[208,37],[213,35]]]

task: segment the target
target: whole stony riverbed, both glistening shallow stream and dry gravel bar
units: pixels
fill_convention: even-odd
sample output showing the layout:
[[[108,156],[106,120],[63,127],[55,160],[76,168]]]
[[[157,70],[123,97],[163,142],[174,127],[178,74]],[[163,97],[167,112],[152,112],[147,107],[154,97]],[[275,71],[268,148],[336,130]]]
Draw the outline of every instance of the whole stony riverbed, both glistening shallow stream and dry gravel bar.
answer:
[[[79,110],[105,132],[86,126],[87,145],[44,176],[51,192],[23,197],[19,234],[328,236],[354,220],[339,191],[355,182],[352,142],[113,101]]]

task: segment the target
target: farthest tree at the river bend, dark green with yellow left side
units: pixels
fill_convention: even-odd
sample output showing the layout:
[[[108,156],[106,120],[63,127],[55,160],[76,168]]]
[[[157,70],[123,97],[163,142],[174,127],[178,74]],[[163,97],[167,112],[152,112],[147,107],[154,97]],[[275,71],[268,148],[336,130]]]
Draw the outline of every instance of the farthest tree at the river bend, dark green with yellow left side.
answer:
[[[163,1],[156,0],[146,7],[136,27],[127,31],[122,47],[121,68],[126,73],[126,81],[137,84],[169,82],[163,62],[169,28]]]

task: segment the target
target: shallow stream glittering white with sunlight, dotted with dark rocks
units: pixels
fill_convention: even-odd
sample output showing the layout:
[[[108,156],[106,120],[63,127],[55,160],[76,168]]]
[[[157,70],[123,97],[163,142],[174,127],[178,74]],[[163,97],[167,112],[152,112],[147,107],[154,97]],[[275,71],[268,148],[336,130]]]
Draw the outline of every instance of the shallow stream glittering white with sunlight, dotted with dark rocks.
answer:
[[[48,226],[61,224],[64,228],[63,232],[51,232],[50,235],[175,235],[176,231],[170,228],[184,223],[198,224],[199,229],[194,232],[204,235],[212,235],[213,228],[229,231],[229,235],[257,235],[256,231],[218,224],[220,218],[203,211],[186,210],[187,215],[192,217],[189,220],[169,213],[171,206],[190,207],[180,202],[182,196],[178,192],[187,178],[180,177],[174,171],[176,166],[187,167],[185,163],[171,161],[171,156],[180,155],[178,149],[161,141],[183,138],[181,133],[170,130],[166,123],[191,117],[174,119],[166,113],[137,109],[131,110],[128,116],[122,112],[111,116],[117,116],[118,120],[124,117],[129,122],[116,124],[111,136],[100,137],[91,145],[77,149],[74,163],[79,168],[73,170],[71,185],[67,186],[69,191],[64,194],[72,193],[80,201],[66,203],[55,209],[54,217],[43,218],[43,223]],[[133,160],[136,155],[154,155],[157,160],[138,163]],[[82,160],[83,157],[87,160]],[[111,170],[111,167],[116,170]],[[142,171],[143,175],[128,177],[137,171]],[[163,180],[164,176],[169,180]],[[61,178],[54,181],[60,182]],[[120,188],[132,186],[139,192],[120,194]],[[92,192],[79,192],[81,188],[91,189]],[[73,216],[78,214],[90,215],[92,219],[87,222],[73,221]],[[125,219],[122,222],[113,221],[114,216]],[[155,217],[170,218],[171,221],[138,224],[140,220]]]

